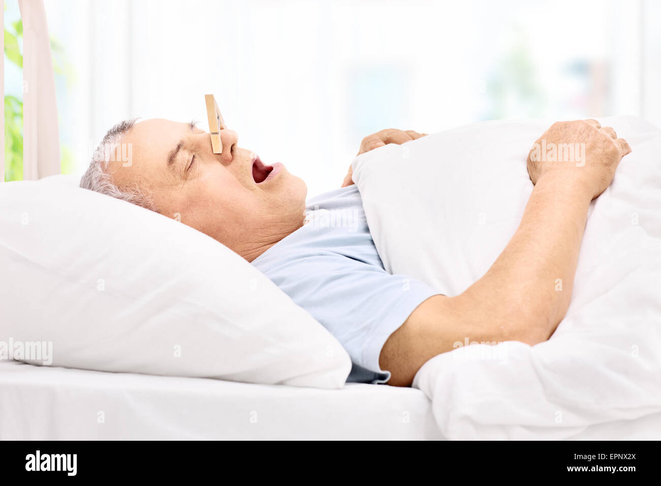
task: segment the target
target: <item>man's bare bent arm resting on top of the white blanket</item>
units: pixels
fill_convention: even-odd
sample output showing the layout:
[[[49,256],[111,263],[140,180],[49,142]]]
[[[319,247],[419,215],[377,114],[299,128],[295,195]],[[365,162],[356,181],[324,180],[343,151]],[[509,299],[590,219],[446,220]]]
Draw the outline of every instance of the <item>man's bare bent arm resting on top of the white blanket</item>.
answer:
[[[516,233],[485,276],[459,296],[426,300],[389,337],[379,357],[392,374],[389,384],[410,385],[422,364],[466,338],[532,345],[553,334],[570,302],[590,201],[631,151],[612,129],[593,122],[555,124],[542,136],[552,143],[585,140],[588,164],[529,161],[536,184]]]

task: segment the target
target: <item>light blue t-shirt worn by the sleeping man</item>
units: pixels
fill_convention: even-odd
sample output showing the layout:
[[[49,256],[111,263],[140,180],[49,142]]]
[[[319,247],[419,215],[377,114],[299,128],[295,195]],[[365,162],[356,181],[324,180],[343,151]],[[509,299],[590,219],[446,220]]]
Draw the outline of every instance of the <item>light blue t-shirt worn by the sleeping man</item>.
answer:
[[[348,382],[387,382],[383,344],[438,292],[384,270],[355,185],[309,200],[306,220],[253,265],[340,341],[354,364]]]

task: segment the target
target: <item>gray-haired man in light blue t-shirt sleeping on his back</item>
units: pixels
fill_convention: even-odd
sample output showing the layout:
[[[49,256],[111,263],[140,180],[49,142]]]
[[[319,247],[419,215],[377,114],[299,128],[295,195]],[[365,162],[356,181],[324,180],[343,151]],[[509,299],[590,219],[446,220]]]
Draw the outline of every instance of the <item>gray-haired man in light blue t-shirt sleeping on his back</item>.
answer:
[[[383,130],[365,138],[359,154],[420,136]],[[354,364],[348,381],[400,386],[457,341],[549,339],[570,302],[590,201],[631,151],[596,120],[553,124],[537,142],[584,143],[584,167],[529,155],[535,187],[518,230],[482,278],[444,296],[384,270],[351,171],[341,188],[306,208],[305,182],[284,165],[239,147],[231,130],[221,130],[221,140],[222,153],[213,153],[210,134],[194,124],[121,122],[102,140],[81,187],[180,219],[223,243],[342,343]],[[126,146],[131,163],[114,153]],[[351,224],[315,223],[332,214],[350,214]],[[548,285],[557,275],[568,292]]]

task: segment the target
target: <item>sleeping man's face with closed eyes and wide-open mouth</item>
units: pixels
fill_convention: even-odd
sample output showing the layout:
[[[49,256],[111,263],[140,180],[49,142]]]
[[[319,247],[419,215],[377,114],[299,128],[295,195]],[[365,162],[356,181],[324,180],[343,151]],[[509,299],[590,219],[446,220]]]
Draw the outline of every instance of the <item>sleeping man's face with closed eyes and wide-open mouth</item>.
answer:
[[[213,153],[210,134],[192,124],[145,120],[124,138],[131,165],[111,162],[109,171],[120,188],[147,189],[161,214],[179,215],[251,261],[255,244],[303,223],[307,188],[282,164],[237,147],[235,132],[222,130],[221,140],[223,153]]]

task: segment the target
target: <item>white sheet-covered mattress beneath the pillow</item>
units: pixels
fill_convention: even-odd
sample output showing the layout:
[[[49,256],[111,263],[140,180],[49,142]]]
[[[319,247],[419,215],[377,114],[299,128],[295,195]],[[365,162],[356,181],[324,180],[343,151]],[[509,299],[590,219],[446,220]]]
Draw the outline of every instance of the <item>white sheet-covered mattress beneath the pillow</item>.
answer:
[[[418,389],[347,384],[324,390],[0,361],[0,439],[442,436]]]

